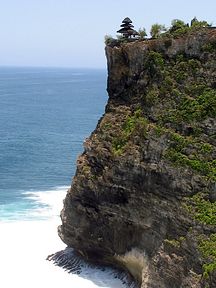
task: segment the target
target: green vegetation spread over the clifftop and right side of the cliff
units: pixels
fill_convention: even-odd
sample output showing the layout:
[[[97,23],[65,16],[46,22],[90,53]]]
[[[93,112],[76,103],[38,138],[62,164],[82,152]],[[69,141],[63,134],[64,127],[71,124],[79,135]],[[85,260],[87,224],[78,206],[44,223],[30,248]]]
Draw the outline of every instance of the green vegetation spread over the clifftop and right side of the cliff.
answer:
[[[119,130],[114,131],[112,137],[114,156],[129,151],[132,155],[141,145],[144,151],[148,137],[149,141],[153,139],[161,145],[162,162],[167,161],[169,165],[185,173],[187,179],[189,175],[194,176],[191,184],[194,188],[189,188],[188,194],[192,193],[192,189],[199,189],[200,192],[187,197],[184,207],[189,212],[188,221],[191,221],[191,231],[188,233],[195,235],[194,242],[195,245],[198,244],[202,256],[204,277],[216,270],[216,234],[213,234],[216,226],[216,202],[211,201],[207,191],[216,181],[216,136],[213,129],[216,117],[216,84],[213,79],[216,42],[203,45],[200,52],[206,53],[197,53],[196,57],[191,56],[193,53],[188,53],[187,50],[177,55],[164,51],[174,42],[172,38],[188,35],[208,26],[206,21],[196,19],[193,19],[190,25],[175,19],[165,33],[162,33],[162,25],[152,26],[151,36],[163,38],[158,42],[149,41],[150,48],[143,60],[143,71],[140,75],[135,75],[140,82],[143,81],[140,91],[139,85],[131,90],[128,88],[128,95],[135,95],[131,100],[134,101],[132,109],[141,103],[143,111],[137,110],[129,116],[125,113],[121,124],[118,124]],[[199,35],[202,36],[202,33]],[[145,36],[145,29],[140,30],[140,37]],[[192,50],[193,47],[188,49]],[[137,78],[134,77],[135,80]],[[143,115],[149,115],[149,119]],[[108,129],[110,131],[112,126],[108,126]],[[200,237],[200,233],[208,235]],[[196,236],[198,234],[199,236]],[[168,238],[164,240],[164,245],[175,250],[183,247],[183,240],[183,237]],[[187,241],[184,244],[187,245]]]

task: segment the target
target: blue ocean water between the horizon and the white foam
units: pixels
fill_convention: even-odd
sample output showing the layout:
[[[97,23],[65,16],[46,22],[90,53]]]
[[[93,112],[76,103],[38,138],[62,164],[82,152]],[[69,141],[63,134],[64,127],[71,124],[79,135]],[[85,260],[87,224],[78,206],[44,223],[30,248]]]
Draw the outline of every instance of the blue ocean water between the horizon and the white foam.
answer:
[[[0,68],[0,220],[47,217],[43,208],[65,195],[104,112],[106,77],[105,70]]]

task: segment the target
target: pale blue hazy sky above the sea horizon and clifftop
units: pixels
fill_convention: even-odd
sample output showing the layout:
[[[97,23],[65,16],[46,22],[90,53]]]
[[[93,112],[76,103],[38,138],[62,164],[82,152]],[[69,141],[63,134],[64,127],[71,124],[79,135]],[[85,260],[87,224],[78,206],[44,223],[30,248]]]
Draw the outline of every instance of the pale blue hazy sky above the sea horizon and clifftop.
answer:
[[[104,35],[196,16],[216,25],[215,0],[0,0],[0,66],[106,68]]]

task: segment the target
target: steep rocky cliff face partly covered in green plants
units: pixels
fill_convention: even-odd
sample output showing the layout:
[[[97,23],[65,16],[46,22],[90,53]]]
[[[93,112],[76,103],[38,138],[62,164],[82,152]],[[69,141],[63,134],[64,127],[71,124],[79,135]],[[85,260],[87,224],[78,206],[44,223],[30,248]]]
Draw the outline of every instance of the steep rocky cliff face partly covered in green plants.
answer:
[[[216,287],[216,30],[106,55],[106,113],[78,158],[59,235],[141,287]]]

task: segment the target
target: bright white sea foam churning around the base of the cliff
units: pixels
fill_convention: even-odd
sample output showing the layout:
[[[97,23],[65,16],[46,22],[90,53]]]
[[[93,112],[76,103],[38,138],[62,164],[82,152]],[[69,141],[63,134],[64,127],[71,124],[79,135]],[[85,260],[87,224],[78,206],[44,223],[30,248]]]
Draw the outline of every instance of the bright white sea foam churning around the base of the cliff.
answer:
[[[47,191],[25,192],[25,197],[35,202],[26,210],[25,221],[0,222],[1,287],[75,287],[123,288],[125,283],[110,268],[79,266],[79,274],[59,267],[56,261],[47,261],[48,255],[67,251],[57,234],[59,212],[67,187]],[[23,215],[22,215],[23,217]],[[34,220],[31,220],[34,219]],[[35,220],[38,219],[38,220]],[[65,252],[60,252],[65,253]],[[71,273],[69,273],[71,272]]]

